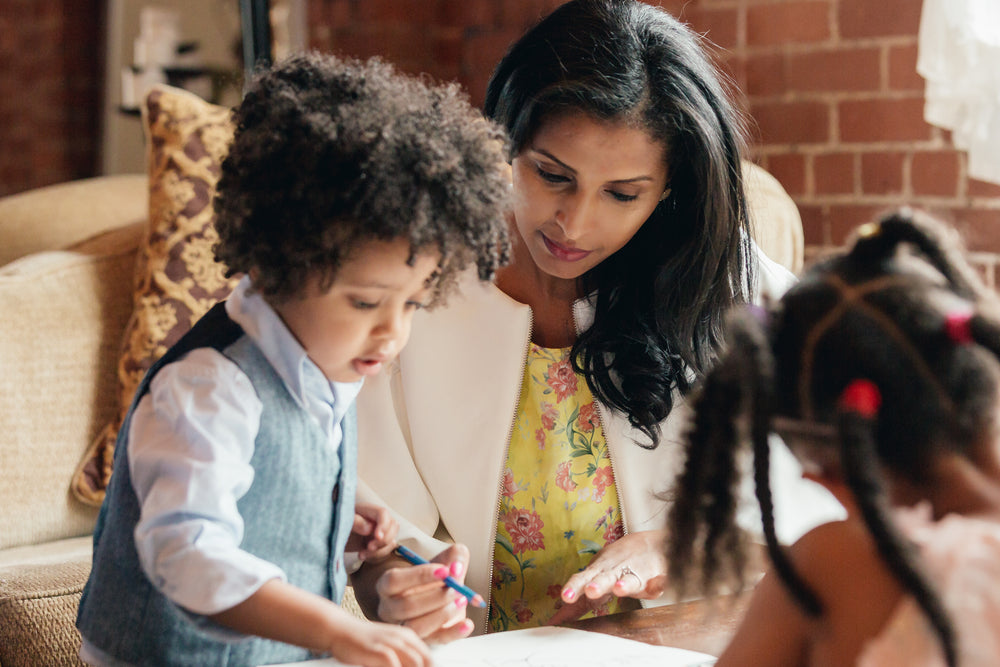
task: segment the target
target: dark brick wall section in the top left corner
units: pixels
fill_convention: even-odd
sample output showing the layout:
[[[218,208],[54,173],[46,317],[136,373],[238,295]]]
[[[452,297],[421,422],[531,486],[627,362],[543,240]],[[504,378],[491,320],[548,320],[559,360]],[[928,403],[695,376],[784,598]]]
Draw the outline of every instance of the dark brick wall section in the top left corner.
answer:
[[[3,1],[0,196],[96,173],[103,6]]]

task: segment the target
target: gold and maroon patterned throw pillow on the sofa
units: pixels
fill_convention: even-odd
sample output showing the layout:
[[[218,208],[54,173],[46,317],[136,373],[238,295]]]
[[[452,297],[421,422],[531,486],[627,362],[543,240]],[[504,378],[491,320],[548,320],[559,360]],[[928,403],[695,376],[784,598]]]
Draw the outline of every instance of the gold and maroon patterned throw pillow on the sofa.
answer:
[[[177,88],[156,86],[142,109],[149,170],[149,227],[139,248],[134,311],[118,363],[121,409],[87,449],[72,491],[100,505],[111,477],[115,439],[149,367],[215,303],[229,296],[212,245],[212,197],[233,137],[229,109]]]

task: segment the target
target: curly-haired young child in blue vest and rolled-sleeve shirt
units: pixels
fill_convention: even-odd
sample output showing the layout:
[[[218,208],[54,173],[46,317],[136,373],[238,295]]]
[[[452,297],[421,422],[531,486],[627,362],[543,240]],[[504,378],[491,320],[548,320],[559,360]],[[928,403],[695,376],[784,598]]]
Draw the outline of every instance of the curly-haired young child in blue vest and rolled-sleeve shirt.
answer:
[[[81,657],[428,665],[412,630],[337,604],[345,551],[384,557],[397,529],[355,503],[354,399],[416,310],[506,261],[504,134],[455,85],[317,54],[258,74],[235,120],[215,252],[244,275],[136,393]]]

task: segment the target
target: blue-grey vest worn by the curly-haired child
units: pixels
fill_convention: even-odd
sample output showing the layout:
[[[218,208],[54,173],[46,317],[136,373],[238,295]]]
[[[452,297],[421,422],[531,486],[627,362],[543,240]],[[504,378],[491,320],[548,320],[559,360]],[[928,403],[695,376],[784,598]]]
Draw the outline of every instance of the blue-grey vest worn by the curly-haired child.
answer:
[[[91,644],[123,664],[264,665],[317,657],[256,637],[228,641],[209,619],[171,603],[139,565],[132,538],[139,504],[129,477],[127,447],[132,413],[160,368],[199,347],[215,348],[236,363],[264,406],[250,460],[254,481],[238,501],[245,522],[241,548],[278,565],[290,583],[306,591],[337,602],[344,594],[343,551],[357,484],[354,408],[341,423],[339,450],[330,451],[319,425],[219,304],[154,364],[136,392],[118,434],[77,627]]]

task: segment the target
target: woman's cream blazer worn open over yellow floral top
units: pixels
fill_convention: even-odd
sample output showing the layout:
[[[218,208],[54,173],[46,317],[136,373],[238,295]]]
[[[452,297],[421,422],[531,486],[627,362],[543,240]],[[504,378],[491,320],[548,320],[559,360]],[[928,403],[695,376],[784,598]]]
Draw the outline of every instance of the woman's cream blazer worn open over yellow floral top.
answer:
[[[794,277],[758,254],[757,294],[778,297]],[[574,314],[578,328],[585,328],[593,310],[584,299],[575,304]],[[391,508],[400,521],[400,541],[427,558],[444,548],[432,536],[465,544],[470,552],[466,584],[484,597],[491,590],[501,475],[530,332],[528,306],[470,273],[446,307],[417,314],[398,360],[368,378],[357,401],[359,500]],[[646,438],[619,412],[598,403],[626,532],[665,526],[667,505],[657,494],[671,485],[683,464],[681,438],[690,415],[680,395],[674,399],[653,450],[635,444]],[[839,516],[832,496],[801,480],[790,455],[772,458],[778,477],[814,487],[807,491],[817,497],[825,495],[823,516],[830,517],[831,510]],[[782,535],[794,539],[797,534],[789,531],[801,530],[784,525],[784,484],[775,486]],[[747,490],[752,494],[752,485]],[[802,510],[801,498],[795,502]],[[759,524],[755,501],[745,505],[741,523]],[[814,512],[807,514],[790,518],[806,518],[808,527],[822,522],[812,520]],[[485,610],[470,607],[469,617],[481,632]]]

